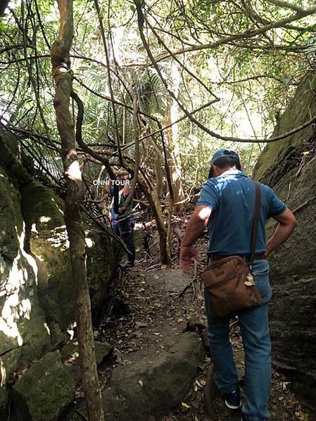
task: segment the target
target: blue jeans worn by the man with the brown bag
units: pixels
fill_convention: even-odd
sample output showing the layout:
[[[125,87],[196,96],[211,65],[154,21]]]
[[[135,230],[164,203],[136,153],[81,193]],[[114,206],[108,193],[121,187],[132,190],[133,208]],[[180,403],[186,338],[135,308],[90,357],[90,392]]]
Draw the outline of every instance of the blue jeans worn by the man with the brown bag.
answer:
[[[267,401],[271,390],[271,342],[268,325],[268,302],[272,296],[269,283],[269,264],[255,260],[253,274],[263,297],[263,305],[252,310],[239,311],[239,325],[245,352],[246,404],[242,407],[244,420],[269,420]],[[238,388],[239,379],[229,340],[229,317],[217,318],[205,289],[208,314],[208,341],[212,356],[215,382],[222,392]]]

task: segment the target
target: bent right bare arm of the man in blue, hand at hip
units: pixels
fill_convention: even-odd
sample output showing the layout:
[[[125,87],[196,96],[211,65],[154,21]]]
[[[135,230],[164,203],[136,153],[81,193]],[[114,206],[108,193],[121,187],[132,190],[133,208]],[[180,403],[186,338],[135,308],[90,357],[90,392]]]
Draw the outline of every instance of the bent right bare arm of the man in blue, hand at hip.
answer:
[[[282,212],[282,214],[273,216],[273,219],[278,221],[279,224],[277,225],[274,234],[267,242],[267,256],[289,238],[293,232],[293,229],[297,225],[296,217],[293,215],[290,209],[286,209],[284,212]]]

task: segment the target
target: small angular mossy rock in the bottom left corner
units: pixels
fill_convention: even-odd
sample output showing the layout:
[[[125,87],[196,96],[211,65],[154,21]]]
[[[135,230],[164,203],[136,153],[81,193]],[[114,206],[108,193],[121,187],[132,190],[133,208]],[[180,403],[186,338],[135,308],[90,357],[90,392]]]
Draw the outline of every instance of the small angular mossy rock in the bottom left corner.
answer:
[[[37,361],[13,386],[12,421],[56,421],[75,396],[59,351]]]

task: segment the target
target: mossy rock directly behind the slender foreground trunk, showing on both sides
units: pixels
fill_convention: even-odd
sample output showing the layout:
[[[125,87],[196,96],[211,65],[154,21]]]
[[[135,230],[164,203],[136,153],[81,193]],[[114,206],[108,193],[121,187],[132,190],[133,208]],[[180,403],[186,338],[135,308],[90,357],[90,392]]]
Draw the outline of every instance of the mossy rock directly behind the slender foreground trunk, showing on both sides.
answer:
[[[75,320],[75,294],[65,227],[32,235],[31,247],[44,266],[44,276],[39,279],[41,305],[49,322],[56,320],[65,330]],[[118,243],[106,233],[87,231],[87,279],[94,318],[98,317],[106,301],[108,283],[120,256]]]

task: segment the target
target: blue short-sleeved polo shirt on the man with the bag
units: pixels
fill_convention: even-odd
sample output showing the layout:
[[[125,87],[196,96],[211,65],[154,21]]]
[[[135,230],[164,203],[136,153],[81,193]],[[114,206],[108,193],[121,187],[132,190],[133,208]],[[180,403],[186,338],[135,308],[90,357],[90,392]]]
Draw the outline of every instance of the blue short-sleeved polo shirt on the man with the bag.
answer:
[[[266,251],[265,222],[286,209],[286,205],[279,200],[272,188],[260,183],[260,190],[256,254]],[[251,179],[235,169],[208,179],[203,184],[196,206],[198,205],[206,205],[212,209],[208,221],[208,255],[250,254],[255,208],[255,186]]]

